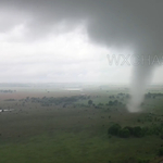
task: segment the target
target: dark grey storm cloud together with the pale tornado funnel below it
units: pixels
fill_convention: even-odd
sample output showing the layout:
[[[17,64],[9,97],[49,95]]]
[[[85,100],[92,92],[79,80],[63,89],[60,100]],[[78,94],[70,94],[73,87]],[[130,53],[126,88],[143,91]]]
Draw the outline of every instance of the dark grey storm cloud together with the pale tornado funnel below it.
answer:
[[[162,0],[7,0],[0,1],[4,15],[0,30],[25,22],[26,37],[40,39],[64,22],[64,30],[85,23],[91,41],[106,47],[129,48],[135,54],[159,55],[163,42]],[[62,30],[63,33],[63,30]],[[138,66],[133,78],[130,111],[142,102],[152,66]]]

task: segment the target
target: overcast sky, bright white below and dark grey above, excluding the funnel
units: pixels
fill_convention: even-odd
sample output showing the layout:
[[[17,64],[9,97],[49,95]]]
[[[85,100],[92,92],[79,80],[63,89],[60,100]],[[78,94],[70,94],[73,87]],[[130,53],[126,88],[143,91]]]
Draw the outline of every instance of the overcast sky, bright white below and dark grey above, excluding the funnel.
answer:
[[[0,83],[127,84],[134,67],[111,66],[106,54],[135,54],[145,48],[162,52],[162,4],[161,0],[0,1]],[[154,71],[153,83],[162,83],[162,71]]]

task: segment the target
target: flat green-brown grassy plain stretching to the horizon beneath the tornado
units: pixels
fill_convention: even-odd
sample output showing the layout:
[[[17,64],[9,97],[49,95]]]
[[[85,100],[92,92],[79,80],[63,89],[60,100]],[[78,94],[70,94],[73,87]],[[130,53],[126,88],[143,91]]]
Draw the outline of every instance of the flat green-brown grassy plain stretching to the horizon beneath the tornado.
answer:
[[[108,128],[113,123],[141,127],[162,123],[163,98],[146,99],[143,112],[128,113],[125,106],[127,99],[117,98],[120,92],[128,93],[128,90],[86,89],[80,92],[27,89],[13,93],[1,92],[1,109],[14,110],[0,113],[0,162],[139,163],[140,160],[159,162],[162,158],[158,152],[163,146],[160,135],[141,138],[109,137]],[[50,100],[51,97],[62,98],[82,93],[85,99],[68,104],[41,103],[43,97]],[[110,96],[115,96],[123,104],[106,105],[111,100]],[[88,100],[92,100],[95,105],[88,105]],[[95,108],[99,103],[102,105]]]

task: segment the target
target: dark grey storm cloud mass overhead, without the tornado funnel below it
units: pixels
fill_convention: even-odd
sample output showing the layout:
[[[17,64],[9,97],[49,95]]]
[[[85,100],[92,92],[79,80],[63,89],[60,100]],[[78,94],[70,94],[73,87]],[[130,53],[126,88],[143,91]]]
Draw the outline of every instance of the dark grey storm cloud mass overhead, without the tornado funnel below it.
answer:
[[[108,46],[162,48],[163,29],[161,0],[13,0],[1,8],[32,17],[33,34],[49,33],[61,21],[72,27],[88,21],[88,35],[93,41]],[[11,15],[12,17],[12,15]],[[9,20],[12,21],[12,20]]]

